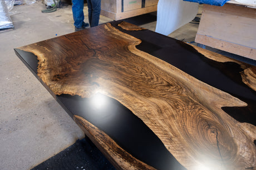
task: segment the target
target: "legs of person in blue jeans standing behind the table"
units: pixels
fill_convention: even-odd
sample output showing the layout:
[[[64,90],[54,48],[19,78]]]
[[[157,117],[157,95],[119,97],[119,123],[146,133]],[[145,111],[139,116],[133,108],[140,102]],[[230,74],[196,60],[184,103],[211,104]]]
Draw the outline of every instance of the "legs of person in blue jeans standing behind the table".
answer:
[[[88,20],[90,27],[99,25],[101,0],[87,0],[88,6]],[[83,0],[72,0],[72,13],[75,25],[75,31],[83,30],[89,26],[83,20],[85,16],[83,14]]]

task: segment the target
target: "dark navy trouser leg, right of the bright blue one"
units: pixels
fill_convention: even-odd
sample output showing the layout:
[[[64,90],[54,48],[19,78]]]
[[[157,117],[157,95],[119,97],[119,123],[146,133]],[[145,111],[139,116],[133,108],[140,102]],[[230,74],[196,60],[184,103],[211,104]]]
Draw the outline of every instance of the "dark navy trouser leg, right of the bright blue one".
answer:
[[[87,0],[88,20],[91,27],[99,25],[101,0]]]

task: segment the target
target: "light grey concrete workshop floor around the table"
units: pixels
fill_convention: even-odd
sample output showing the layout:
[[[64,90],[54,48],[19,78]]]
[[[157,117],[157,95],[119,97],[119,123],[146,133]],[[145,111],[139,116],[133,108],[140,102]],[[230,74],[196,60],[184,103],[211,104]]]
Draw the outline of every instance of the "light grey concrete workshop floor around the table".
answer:
[[[71,6],[53,13],[41,13],[42,9],[41,1],[14,6],[14,30],[0,33],[0,169],[35,167],[84,137],[13,51],[74,31]],[[86,7],[84,11],[86,21]],[[100,23],[110,21],[100,17]],[[155,25],[152,22],[142,27],[155,30]],[[187,24],[169,36],[191,42],[197,28],[198,24]]]

